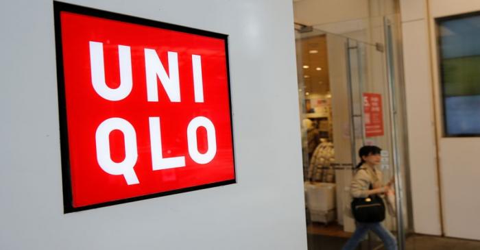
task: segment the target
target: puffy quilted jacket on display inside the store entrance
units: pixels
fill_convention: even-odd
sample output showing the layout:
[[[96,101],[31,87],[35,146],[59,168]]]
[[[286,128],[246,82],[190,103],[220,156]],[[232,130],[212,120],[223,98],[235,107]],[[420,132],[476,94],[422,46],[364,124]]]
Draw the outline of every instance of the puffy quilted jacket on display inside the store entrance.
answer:
[[[320,144],[311,156],[308,179],[312,182],[335,182],[335,169],[331,166],[333,162],[335,162],[333,143],[320,139]]]

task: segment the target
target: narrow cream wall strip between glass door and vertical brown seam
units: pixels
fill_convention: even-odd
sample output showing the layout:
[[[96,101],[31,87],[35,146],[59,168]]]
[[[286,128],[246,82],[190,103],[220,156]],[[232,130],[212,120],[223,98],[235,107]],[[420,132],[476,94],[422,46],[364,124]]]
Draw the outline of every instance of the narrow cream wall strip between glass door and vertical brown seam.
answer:
[[[413,229],[442,234],[425,1],[400,1]]]

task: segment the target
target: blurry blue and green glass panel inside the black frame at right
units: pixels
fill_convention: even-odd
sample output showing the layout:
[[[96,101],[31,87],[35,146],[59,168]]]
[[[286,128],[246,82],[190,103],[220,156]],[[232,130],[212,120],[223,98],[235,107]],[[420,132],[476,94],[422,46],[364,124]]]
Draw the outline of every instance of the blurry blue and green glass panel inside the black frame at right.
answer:
[[[444,133],[480,136],[480,15],[437,20]]]

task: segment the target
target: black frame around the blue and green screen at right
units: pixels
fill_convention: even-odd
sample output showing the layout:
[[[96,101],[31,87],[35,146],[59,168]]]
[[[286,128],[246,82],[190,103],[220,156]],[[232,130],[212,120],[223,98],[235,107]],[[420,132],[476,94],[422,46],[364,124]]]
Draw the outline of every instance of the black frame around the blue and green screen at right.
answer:
[[[453,16],[444,16],[435,18],[435,37],[437,42],[437,68],[438,68],[438,79],[440,82],[440,96],[442,98],[442,136],[445,138],[456,138],[456,137],[480,137],[480,134],[448,134],[447,125],[446,125],[446,106],[445,106],[445,84],[443,77],[443,68],[442,63],[442,39],[440,39],[440,25],[445,21],[452,21],[455,19],[468,18],[471,16],[480,16],[480,12],[469,12],[463,14],[456,14]]]

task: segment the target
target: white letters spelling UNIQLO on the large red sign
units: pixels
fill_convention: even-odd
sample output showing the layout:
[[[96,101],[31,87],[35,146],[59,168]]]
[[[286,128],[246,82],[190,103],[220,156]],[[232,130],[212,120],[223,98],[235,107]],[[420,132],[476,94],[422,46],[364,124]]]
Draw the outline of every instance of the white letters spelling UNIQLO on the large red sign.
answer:
[[[133,81],[130,47],[118,45],[120,86],[112,89],[107,86],[105,79],[103,43],[90,41],[89,45],[91,79],[95,92],[108,101],[120,101],[128,97],[130,92],[132,92]],[[171,102],[180,102],[180,77],[177,53],[168,51],[168,74],[154,49],[144,49],[144,53],[147,101],[158,101],[159,79],[169,100]],[[200,55],[191,55],[191,58],[195,103],[203,103],[202,58]],[[160,117],[149,117],[148,119],[152,169],[157,171],[186,166],[185,156],[163,157]],[[198,150],[197,129],[199,127],[206,129],[208,145],[206,153],[200,153]],[[125,159],[119,163],[114,162],[110,156],[110,133],[114,130],[121,131],[125,139]],[[215,158],[217,153],[217,138],[215,133],[215,126],[204,116],[193,118],[187,126],[187,143],[185,146],[188,147],[191,159],[197,162],[197,164],[207,164]],[[139,178],[134,171],[138,158],[138,149],[136,145],[136,132],[132,124],[119,117],[107,118],[97,127],[95,142],[97,147],[97,162],[103,171],[110,175],[123,175],[128,185],[139,184]]]

